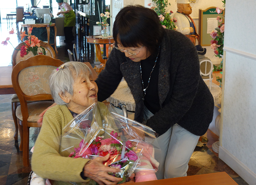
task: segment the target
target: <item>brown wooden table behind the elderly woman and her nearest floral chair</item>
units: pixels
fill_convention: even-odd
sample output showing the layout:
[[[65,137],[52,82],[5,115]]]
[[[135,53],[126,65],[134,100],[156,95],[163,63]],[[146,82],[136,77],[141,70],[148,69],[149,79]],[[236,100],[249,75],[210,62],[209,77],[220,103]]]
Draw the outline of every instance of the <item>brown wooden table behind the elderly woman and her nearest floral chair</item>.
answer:
[[[92,79],[98,78],[97,73],[93,70],[89,62],[84,62],[92,71]],[[12,87],[12,69],[14,66],[0,67],[0,95],[16,94]]]

